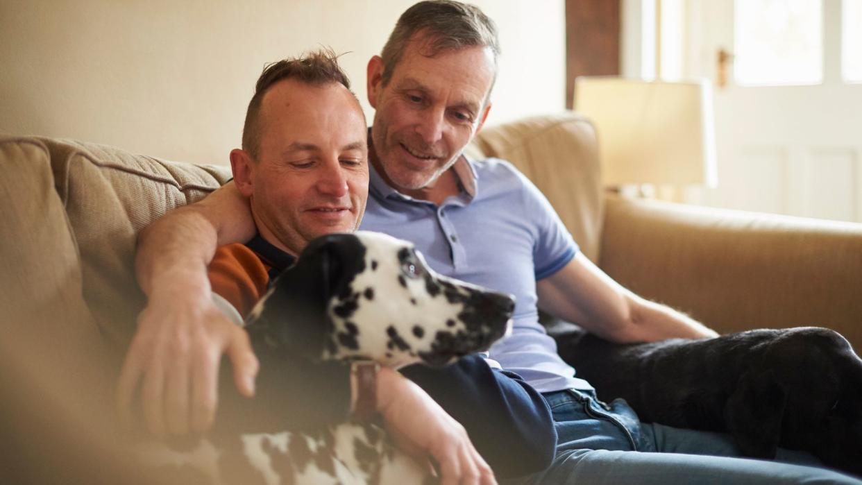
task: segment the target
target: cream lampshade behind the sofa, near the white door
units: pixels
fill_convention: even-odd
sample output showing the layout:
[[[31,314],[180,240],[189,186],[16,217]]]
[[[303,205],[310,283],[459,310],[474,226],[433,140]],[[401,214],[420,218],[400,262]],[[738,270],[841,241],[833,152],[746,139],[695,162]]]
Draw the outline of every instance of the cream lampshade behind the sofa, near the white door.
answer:
[[[579,77],[574,108],[596,127],[605,185],[717,184],[708,81]]]

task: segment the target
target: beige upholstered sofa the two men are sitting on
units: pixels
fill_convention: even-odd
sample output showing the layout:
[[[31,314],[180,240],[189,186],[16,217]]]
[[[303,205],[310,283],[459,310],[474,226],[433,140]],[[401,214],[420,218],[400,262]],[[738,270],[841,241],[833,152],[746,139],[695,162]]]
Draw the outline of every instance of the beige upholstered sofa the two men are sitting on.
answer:
[[[573,113],[487,128],[469,151],[518,165],[640,295],[720,332],[821,325],[862,345],[862,225],[606,196],[595,133]],[[0,167],[0,446],[17,457],[0,480],[149,482],[128,472],[111,413],[144,304],[135,237],[229,169],[22,137],[0,139]]]

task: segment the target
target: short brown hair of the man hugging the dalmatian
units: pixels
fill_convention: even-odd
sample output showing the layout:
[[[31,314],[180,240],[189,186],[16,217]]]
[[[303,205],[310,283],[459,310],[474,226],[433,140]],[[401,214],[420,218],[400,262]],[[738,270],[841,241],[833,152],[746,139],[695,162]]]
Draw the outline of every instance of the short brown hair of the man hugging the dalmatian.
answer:
[[[246,123],[242,127],[242,149],[248,152],[252,159],[257,159],[260,147],[260,103],[272,84],[284,79],[296,79],[315,86],[337,83],[350,90],[350,79],[338,65],[338,56],[329,48],[265,65],[264,72],[260,74],[255,85],[252,101],[248,103]]]

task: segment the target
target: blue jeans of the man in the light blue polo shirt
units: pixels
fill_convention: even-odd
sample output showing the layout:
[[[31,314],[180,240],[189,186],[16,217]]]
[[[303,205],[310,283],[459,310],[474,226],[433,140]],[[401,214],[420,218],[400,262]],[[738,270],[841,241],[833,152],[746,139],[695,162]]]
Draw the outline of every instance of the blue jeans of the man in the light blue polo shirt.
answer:
[[[817,458],[779,450],[775,461],[741,458],[730,436],[641,423],[626,401],[605,404],[591,392],[546,393],[558,441],[552,466],[518,483],[709,484],[854,483],[817,468]]]

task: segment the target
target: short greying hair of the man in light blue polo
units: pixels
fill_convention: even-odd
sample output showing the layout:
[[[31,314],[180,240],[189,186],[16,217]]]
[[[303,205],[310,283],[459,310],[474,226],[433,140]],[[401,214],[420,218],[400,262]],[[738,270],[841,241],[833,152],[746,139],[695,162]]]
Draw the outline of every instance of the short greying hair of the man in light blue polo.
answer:
[[[384,65],[381,79],[384,86],[389,84],[395,66],[404,55],[404,49],[416,34],[422,34],[428,40],[426,50],[422,53],[428,57],[434,57],[446,49],[490,47],[496,65],[497,56],[500,55],[497,25],[477,6],[453,0],[426,0],[405,10],[398,18],[389,40],[386,40],[380,53]]]

